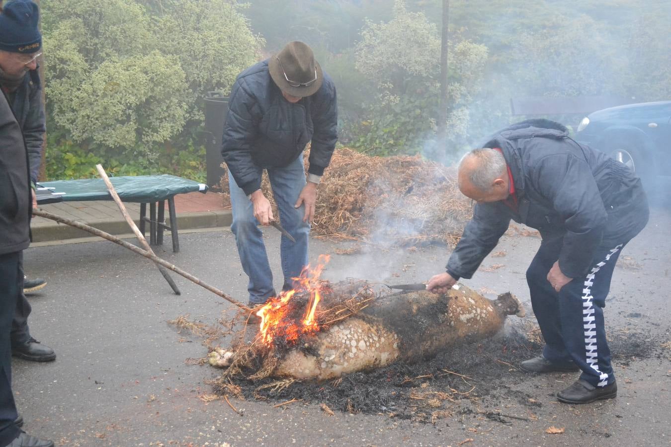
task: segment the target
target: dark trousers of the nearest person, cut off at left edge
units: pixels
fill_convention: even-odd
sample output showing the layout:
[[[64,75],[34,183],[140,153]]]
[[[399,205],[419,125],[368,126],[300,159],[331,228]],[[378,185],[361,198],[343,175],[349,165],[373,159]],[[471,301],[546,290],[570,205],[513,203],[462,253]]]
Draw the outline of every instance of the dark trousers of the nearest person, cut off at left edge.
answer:
[[[23,294],[21,252],[0,255],[0,446],[19,436],[14,425],[18,414],[11,392],[11,343],[9,332],[19,295]]]

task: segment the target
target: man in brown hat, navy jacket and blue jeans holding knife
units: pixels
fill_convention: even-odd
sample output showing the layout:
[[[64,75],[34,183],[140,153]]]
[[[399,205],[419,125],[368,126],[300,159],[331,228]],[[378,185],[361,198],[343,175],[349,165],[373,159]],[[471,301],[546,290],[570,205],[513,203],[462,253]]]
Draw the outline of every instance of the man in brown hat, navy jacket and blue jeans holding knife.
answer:
[[[258,225],[274,220],[261,191],[268,172],[282,227],[280,257],[283,290],[307,265],[310,222],[317,184],[338,141],[335,86],[303,42],[289,42],[280,52],[242,72],[229,101],[221,154],[229,170],[233,223],[242,268],[249,277],[250,306],[276,296],[272,272]],[[303,149],[311,141],[307,180]]]

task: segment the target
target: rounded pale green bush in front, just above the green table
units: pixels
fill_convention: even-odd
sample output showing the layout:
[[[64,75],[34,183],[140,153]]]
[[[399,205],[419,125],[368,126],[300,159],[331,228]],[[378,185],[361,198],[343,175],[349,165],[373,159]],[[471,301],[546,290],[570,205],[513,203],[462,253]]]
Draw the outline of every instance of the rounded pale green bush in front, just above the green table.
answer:
[[[75,141],[140,150],[157,157],[156,146],[186,122],[185,74],[177,58],[154,51],[103,62],[69,93],[66,107],[56,103],[56,123]]]

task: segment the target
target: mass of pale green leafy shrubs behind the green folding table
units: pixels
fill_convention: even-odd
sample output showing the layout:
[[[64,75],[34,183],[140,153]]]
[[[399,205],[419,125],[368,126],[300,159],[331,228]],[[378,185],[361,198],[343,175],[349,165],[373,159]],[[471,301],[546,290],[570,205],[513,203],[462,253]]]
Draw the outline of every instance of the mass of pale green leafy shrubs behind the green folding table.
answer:
[[[146,3],[42,1],[50,134],[66,147],[59,153],[74,141],[150,169],[172,145],[193,149],[199,99],[227,92],[257,60],[263,40],[236,2]]]

